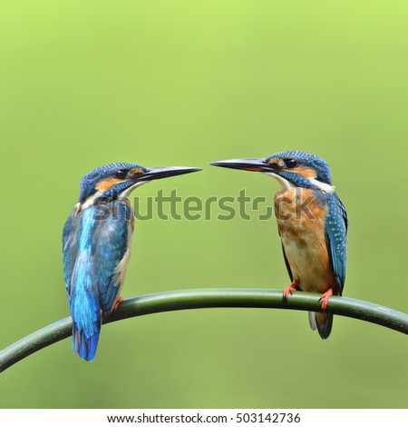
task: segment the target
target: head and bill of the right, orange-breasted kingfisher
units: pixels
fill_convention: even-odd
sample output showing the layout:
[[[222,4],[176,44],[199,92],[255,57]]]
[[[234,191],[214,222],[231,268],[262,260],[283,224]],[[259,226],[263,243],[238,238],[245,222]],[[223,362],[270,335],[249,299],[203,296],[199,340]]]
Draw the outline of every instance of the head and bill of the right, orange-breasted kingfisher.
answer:
[[[284,151],[260,159],[233,159],[213,166],[261,172],[277,179],[283,188],[304,187],[333,193],[330,167],[323,159],[305,151]]]

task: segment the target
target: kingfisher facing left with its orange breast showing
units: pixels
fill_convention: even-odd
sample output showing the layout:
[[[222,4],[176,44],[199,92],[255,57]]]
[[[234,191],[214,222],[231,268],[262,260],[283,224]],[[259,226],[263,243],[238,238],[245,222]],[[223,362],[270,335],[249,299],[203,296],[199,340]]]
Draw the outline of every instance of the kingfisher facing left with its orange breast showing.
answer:
[[[266,158],[234,159],[214,166],[260,172],[280,184],[274,206],[287,272],[291,280],[283,292],[287,300],[296,290],[321,293],[321,310],[345,286],[347,213],[329,165],[315,154],[285,151]],[[333,314],[309,313],[309,324],[328,338]]]

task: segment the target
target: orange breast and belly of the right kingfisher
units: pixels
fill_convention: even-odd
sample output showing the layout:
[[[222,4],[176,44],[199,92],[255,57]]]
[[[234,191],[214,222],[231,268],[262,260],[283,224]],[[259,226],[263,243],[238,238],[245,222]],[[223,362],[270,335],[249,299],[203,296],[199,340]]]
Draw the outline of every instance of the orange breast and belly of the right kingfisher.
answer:
[[[325,243],[326,207],[312,190],[280,190],[275,215],[287,262],[295,280],[306,292],[338,293],[335,273]]]

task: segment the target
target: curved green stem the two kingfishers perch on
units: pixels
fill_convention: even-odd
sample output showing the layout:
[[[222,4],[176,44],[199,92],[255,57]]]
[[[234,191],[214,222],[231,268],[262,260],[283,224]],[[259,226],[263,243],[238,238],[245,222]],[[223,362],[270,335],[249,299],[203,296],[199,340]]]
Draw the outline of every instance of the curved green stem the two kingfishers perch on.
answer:
[[[123,301],[105,323],[151,313],[172,312],[209,307],[280,308],[319,312],[320,294],[296,292],[288,301],[282,299],[281,290],[267,289],[186,289],[163,293],[150,293]],[[391,308],[352,298],[333,296],[326,313],[354,317],[377,323],[387,328],[408,333],[408,314]],[[271,325],[272,327],[272,325]],[[0,352],[0,372],[48,345],[71,335],[72,319],[67,317],[27,335]]]

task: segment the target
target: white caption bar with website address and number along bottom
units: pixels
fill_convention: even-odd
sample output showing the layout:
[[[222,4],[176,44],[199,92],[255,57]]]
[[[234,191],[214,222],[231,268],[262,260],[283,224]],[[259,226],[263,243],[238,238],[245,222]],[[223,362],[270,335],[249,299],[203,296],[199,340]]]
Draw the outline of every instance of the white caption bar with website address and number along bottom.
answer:
[[[369,425],[370,427],[406,427],[408,410],[318,410],[318,409],[101,409],[101,410],[0,410],[0,425],[30,427],[86,427],[100,426],[300,426],[344,427]]]

